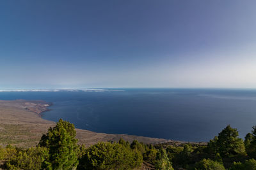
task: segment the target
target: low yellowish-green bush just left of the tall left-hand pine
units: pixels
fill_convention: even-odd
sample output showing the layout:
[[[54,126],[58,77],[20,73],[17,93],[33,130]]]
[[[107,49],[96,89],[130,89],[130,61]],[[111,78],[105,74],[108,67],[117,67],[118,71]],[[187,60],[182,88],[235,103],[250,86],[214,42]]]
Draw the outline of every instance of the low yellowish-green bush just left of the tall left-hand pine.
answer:
[[[16,155],[13,155],[13,157],[8,160],[6,166],[8,169],[41,169],[41,164],[46,157],[48,157],[47,148],[28,148],[28,150],[22,150]]]

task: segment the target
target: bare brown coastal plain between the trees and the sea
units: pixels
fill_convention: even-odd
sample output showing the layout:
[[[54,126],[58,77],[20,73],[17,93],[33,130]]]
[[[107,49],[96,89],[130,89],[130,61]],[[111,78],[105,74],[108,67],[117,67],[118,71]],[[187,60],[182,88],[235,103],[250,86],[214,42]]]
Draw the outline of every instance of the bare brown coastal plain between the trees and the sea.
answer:
[[[56,123],[44,120],[40,113],[48,110],[51,103],[44,101],[0,101],[0,144],[15,146],[36,146],[42,134]],[[80,144],[86,146],[99,141],[118,141],[120,138],[131,142],[134,139],[143,143],[173,142],[166,139],[131,136],[126,134],[105,134],[76,129]]]

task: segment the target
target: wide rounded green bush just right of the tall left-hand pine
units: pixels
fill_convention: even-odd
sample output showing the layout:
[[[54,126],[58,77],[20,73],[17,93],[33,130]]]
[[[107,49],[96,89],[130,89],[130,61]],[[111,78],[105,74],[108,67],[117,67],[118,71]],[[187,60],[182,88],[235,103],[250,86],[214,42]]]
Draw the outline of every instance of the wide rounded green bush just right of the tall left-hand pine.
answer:
[[[120,143],[97,143],[85,150],[77,169],[133,169],[142,159],[140,152]]]

